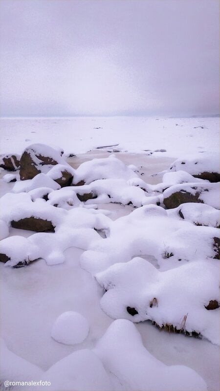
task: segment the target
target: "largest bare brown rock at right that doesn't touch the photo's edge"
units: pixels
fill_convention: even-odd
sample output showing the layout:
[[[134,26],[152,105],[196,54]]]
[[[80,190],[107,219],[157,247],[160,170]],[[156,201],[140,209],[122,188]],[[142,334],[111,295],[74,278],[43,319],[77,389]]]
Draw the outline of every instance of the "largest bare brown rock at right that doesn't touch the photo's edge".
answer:
[[[178,192],[171,194],[169,197],[164,198],[163,203],[167,209],[177,208],[177,206],[184,204],[185,202],[203,203],[201,199],[198,199],[199,195],[200,195],[199,192],[193,195],[185,190],[180,190]]]

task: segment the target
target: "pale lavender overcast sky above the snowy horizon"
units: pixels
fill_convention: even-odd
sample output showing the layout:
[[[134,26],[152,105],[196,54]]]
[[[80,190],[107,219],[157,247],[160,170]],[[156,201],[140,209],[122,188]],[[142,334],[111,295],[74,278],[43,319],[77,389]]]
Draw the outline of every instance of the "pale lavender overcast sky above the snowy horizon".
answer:
[[[219,113],[218,0],[0,0],[1,115]]]

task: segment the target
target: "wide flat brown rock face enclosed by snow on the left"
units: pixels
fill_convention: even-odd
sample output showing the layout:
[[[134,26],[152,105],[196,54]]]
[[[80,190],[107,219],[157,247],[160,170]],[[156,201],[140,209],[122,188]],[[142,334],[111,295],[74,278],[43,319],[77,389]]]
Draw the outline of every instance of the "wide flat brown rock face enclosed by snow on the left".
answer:
[[[36,232],[54,232],[55,228],[51,221],[33,216],[21,218],[21,220],[18,221],[12,220],[11,226],[13,228],[25,229]]]

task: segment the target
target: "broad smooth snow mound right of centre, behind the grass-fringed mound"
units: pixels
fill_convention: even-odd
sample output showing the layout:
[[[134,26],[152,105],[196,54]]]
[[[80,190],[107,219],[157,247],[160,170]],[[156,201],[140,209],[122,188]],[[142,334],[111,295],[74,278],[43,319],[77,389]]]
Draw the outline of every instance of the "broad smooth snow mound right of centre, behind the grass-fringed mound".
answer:
[[[161,270],[177,267],[180,261],[215,258],[214,238],[219,229],[197,227],[168,217],[160,206],[146,205],[129,216],[112,221],[107,239],[91,243],[81,256],[81,266],[92,274],[135,256],[153,256]]]

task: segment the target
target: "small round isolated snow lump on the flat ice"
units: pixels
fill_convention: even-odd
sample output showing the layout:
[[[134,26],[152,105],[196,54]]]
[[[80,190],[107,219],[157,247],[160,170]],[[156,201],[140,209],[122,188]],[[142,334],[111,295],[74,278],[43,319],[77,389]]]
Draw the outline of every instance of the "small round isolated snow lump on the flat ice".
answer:
[[[67,311],[56,319],[51,337],[61,344],[74,345],[83,342],[88,336],[88,331],[88,321],[83,315]]]

